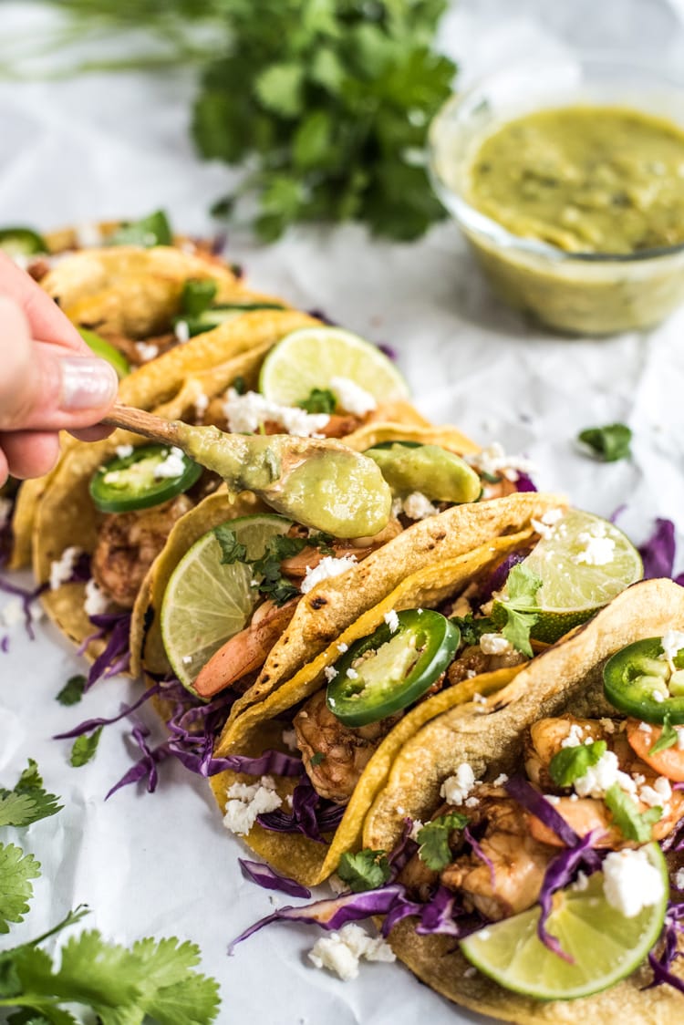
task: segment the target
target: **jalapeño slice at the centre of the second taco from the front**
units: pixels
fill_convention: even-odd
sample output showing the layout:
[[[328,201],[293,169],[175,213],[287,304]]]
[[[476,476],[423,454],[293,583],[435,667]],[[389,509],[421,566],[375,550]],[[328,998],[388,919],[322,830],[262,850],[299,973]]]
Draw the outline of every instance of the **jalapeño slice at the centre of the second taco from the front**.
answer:
[[[458,627],[439,612],[399,612],[394,623],[383,623],[337,659],[326,704],[345,726],[377,723],[417,701],[446,670],[459,643]]]

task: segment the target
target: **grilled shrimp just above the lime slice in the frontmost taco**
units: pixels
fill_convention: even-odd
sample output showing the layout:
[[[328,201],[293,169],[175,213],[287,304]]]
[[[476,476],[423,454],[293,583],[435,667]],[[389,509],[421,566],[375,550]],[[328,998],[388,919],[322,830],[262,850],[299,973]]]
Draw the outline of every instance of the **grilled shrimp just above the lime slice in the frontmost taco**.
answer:
[[[519,805],[511,798],[481,798],[471,826],[478,820],[486,822],[478,843],[490,864],[473,851],[447,865],[441,880],[461,893],[467,906],[498,921],[534,904],[547,865],[557,852],[530,835]]]

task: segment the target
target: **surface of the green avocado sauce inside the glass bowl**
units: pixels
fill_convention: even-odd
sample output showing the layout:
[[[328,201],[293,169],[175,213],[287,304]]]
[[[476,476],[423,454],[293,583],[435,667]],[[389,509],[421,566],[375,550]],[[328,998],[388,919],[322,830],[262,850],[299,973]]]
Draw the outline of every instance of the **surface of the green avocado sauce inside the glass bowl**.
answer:
[[[619,107],[537,111],[477,150],[469,201],[518,237],[630,254],[684,242],[684,131]]]

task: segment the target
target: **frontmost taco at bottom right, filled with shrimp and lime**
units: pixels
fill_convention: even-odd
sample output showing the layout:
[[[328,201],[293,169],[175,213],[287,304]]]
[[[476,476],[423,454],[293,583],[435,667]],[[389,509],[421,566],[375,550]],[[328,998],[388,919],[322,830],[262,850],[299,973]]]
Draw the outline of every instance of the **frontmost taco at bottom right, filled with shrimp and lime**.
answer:
[[[520,1023],[681,1018],[683,630],[684,589],[637,583],[403,745],[363,845],[401,848],[385,931],[444,996]]]

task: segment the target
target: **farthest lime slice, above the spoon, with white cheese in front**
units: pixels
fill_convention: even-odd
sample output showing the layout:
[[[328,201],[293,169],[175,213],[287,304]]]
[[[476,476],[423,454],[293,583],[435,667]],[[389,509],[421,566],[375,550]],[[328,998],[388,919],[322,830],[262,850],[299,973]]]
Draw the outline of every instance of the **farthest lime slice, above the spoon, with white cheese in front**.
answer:
[[[258,379],[271,402],[294,406],[313,388],[326,388],[333,377],[346,377],[380,402],[407,399],[408,385],[379,348],[336,327],[305,327],[286,335],[271,350]]]

